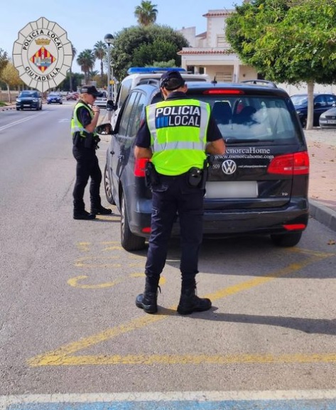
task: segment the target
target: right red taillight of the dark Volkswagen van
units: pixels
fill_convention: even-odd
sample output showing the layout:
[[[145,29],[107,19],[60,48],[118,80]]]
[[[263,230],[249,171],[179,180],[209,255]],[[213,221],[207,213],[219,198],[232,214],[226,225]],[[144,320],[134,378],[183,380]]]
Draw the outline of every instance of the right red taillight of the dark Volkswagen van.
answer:
[[[268,173],[281,175],[306,175],[309,173],[309,156],[307,151],[279,155],[272,159]]]

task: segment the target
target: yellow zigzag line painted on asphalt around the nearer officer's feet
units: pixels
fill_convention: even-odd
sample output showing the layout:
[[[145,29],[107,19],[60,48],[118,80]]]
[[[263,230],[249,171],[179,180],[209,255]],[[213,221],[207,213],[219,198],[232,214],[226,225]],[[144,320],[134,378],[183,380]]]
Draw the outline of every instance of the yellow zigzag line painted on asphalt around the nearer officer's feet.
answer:
[[[310,254],[313,252],[310,252]],[[315,252],[313,256],[305,259],[304,261],[300,261],[297,263],[290,264],[283,269],[278,269],[273,273],[267,274],[267,276],[261,276],[259,278],[251,279],[250,281],[245,281],[240,284],[236,284],[234,286],[229,286],[228,288],[223,288],[220,291],[215,293],[211,293],[207,295],[212,301],[216,301],[220,298],[224,298],[226,296],[232,296],[235,293],[239,293],[241,291],[246,291],[255,286],[259,286],[261,284],[265,284],[266,282],[273,281],[281,276],[286,276],[294,271],[298,271],[303,269],[305,266],[309,264],[313,264],[317,261],[323,260],[327,257],[333,257],[335,254],[325,254],[320,252]],[[173,306],[175,310],[175,306]],[[153,362],[161,362],[161,363],[190,363],[191,360],[194,360],[193,363],[207,363],[207,362],[215,362],[215,363],[246,363],[246,362],[256,362],[256,363],[284,363],[284,362],[335,362],[336,361],[336,354],[311,354],[311,355],[229,355],[229,356],[207,356],[207,355],[112,355],[112,356],[105,356],[105,355],[82,355],[82,356],[72,356],[74,353],[79,352],[80,350],[85,350],[88,347],[93,345],[97,345],[98,343],[104,342],[106,340],[111,340],[112,338],[116,338],[119,335],[124,333],[128,333],[134,331],[139,328],[143,328],[144,326],[151,325],[152,323],[156,323],[159,320],[166,319],[171,314],[160,314],[157,315],[143,315],[139,318],[131,320],[129,323],[125,323],[123,325],[116,326],[111,329],[104,330],[101,333],[97,333],[95,335],[91,335],[88,338],[82,338],[77,342],[71,342],[67,345],[63,345],[62,347],[58,348],[57,350],[53,350],[51,352],[46,352],[43,355],[38,355],[28,360],[28,365],[32,367],[37,366],[50,366],[50,365],[113,365],[113,364],[131,364],[131,363],[139,363],[139,364],[150,364]],[[146,360],[144,360],[146,359]]]

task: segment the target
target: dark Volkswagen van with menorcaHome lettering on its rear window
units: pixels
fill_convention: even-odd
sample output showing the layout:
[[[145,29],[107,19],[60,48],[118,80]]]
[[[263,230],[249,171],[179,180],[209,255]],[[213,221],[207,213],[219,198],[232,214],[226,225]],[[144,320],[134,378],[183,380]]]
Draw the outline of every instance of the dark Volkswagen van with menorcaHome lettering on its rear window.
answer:
[[[308,225],[309,157],[291,98],[276,87],[209,82],[190,82],[188,96],[210,103],[227,146],[223,156],[208,157],[205,236],[269,234],[278,246],[298,244]],[[107,149],[105,193],[121,213],[128,251],[143,248],[151,232],[147,160],[134,158],[134,141],[144,108],[158,101],[158,85],[131,90]],[[178,231],[177,220],[172,234]]]

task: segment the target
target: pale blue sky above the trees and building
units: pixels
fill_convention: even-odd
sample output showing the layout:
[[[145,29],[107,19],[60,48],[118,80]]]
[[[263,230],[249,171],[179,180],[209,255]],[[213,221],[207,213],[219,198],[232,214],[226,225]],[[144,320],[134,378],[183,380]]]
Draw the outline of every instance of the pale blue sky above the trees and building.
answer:
[[[206,30],[209,10],[234,9],[242,0],[151,0],[156,4],[156,22],[176,30],[196,27],[196,33]],[[97,41],[104,41],[107,33],[115,34],[123,28],[137,24],[134,9],[141,0],[9,0],[1,1],[0,48],[11,56],[18,31],[31,21],[45,17],[55,21],[65,31],[77,50],[93,48]],[[96,69],[99,69],[97,63]],[[72,70],[80,72],[77,63]]]

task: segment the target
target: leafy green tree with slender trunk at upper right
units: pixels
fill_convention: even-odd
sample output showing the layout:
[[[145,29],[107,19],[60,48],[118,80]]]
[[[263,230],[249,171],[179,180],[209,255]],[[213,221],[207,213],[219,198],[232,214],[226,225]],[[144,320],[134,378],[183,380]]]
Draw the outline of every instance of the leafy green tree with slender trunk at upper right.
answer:
[[[336,82],[336,0],[256,0],[227,18],[227,41],[267,80],[307,83],[307,129],[314,84]]]

